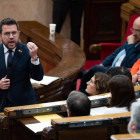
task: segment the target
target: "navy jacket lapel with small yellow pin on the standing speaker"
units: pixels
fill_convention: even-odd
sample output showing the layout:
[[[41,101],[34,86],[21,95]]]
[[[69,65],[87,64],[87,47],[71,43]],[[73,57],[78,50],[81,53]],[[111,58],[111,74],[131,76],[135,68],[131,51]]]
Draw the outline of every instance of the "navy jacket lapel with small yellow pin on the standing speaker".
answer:
[[[14,57],[13,57],[13,60],[12,60],[12,69],[11,69],[11,73],[12,71],[14,70],[14,68],[16,67],[16,64],[18,63],[18,61],[20,60],[20,57],[22,55],[22,47],[20,45],[20,43],[17,44],[17,48],[15,50],[15,53],[14,53]]]

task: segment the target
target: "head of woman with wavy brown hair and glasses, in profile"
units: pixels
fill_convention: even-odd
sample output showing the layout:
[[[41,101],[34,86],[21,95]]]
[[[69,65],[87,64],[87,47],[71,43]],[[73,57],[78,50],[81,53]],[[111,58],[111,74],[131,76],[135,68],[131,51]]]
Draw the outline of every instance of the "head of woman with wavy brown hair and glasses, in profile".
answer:
[[[107,87],[109,80],[110,76],[106,73],[96,72],[91,80],[87,82],[86,92],[90,96],[109,92]]]

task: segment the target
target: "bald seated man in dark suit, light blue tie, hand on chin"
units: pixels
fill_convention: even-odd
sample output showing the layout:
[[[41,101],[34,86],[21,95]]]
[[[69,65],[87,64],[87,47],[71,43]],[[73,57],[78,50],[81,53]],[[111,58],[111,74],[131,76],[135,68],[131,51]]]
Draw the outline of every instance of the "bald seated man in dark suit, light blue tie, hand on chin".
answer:
[[[87,94],[85,92],[86,83],[94,73],[106,72],[110,67],[116,66],[131,68],[140,58],[140,17],[134,21],[131,31],[132,35],[128,36],[127,42],[116,49],[100,65],[95,65],[83,73],[79,91]]]

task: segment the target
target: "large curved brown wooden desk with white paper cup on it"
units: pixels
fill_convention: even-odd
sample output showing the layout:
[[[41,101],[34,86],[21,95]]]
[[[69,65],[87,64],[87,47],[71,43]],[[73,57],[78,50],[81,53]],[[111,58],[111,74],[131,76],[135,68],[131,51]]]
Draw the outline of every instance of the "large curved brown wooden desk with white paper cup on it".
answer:
[[[46,76],[60,77],[48,86],[33,84],[37,103],[61,101],[72,90],[73,80],[85,64],[84,51],[74,42],[36,21],[18,21],[22,43],[32,41],[38,46],[38,56]],[[50,39],[52,40],[50,40]]]

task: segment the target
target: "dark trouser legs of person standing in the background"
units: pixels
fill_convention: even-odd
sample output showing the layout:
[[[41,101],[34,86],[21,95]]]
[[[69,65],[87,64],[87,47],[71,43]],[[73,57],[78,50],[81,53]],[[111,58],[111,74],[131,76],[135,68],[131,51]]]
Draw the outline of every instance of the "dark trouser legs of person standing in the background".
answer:
[[[60,33],[68,10],[71,17],[71,40],[80,46],[80,28],[84,9],[84,0],[53,0],[53,23]]]

